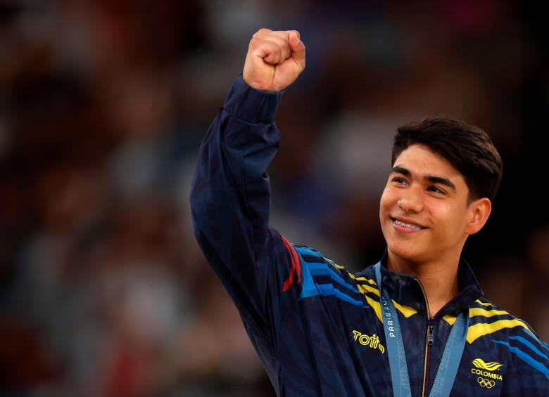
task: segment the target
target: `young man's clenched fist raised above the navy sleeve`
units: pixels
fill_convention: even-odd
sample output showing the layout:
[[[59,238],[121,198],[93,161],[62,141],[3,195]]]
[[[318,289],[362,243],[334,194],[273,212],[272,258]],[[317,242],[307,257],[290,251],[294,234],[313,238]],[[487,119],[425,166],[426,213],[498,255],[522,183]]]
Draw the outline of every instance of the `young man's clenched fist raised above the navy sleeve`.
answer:
[[[242,76],[254,89],[282,91],[305,69],[305,44],[296,30],[260,29],[250,41]]]

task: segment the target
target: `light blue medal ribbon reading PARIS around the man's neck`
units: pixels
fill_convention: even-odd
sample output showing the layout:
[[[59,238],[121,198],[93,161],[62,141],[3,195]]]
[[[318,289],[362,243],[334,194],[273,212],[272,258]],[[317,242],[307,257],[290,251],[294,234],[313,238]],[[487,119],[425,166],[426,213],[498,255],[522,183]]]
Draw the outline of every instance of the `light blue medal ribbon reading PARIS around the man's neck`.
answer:
[[[395,397],[411,397],[410,377],[406,363],[404,342],[398,323],[398,315],[395,305],[389,294],[381,288],[381,263],[374,266],[376,272],[377,287],[379,289],[379,304],[381,304],[381,321],[385,331],[387,354],[389,355],[389,367],[391,369],[391,382],[393,383],[393,395]],[[435,381],[429,393],[429,397],[447,397],[460,367],[461,356],[467,340],[469,328],[469,316],[463,313],[457,316],[450,331],[448,341],[442,354]]]

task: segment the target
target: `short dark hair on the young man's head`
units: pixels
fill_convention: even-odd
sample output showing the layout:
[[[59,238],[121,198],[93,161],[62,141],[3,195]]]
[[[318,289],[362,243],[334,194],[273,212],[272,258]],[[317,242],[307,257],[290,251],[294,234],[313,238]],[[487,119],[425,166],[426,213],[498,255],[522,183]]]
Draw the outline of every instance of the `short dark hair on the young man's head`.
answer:
[[[416,143],[426,145],[460,171],[469,188],[467,204],[481,197],[493,202],[503,175],[503,162],[486,132],[447,117],[405,124],[398,127],[391,166],[403,150]]]

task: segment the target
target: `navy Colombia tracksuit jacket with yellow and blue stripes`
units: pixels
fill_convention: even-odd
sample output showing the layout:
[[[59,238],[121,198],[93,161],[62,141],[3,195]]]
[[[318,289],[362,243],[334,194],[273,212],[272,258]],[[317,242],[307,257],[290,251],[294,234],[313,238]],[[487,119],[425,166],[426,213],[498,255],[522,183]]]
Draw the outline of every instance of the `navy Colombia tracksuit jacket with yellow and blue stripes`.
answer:
[[[278,396],[392,396],[373,266],[360,273],[293,245],[269,226],[266,169],[282,93],[239,76],[201,145],[191,188],[201,249],[239,309]],[[403,332],[412,396],[429,396],[457,313],[467,343],[451,396],[549,396],[549,348],[528,324],[483,297],[461,259],[460,293],[429,318],[419,280],[386,268],[382,283]],[[431,339],[431,341],[429,341]]]

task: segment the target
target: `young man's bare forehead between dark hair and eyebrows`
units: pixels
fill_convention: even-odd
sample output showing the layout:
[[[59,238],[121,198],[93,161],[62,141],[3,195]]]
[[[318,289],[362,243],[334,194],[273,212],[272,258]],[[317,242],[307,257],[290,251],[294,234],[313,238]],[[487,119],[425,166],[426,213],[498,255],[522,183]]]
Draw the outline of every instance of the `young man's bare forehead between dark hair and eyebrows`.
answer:
[[[448,160],[433,152],[425,145],[410,145],[398,155],[393,167],[408,169],[412,176],[424,178],[424,176],[440,176],[452,181],[457,190],[466,187],[465,178],[457,171]]]

